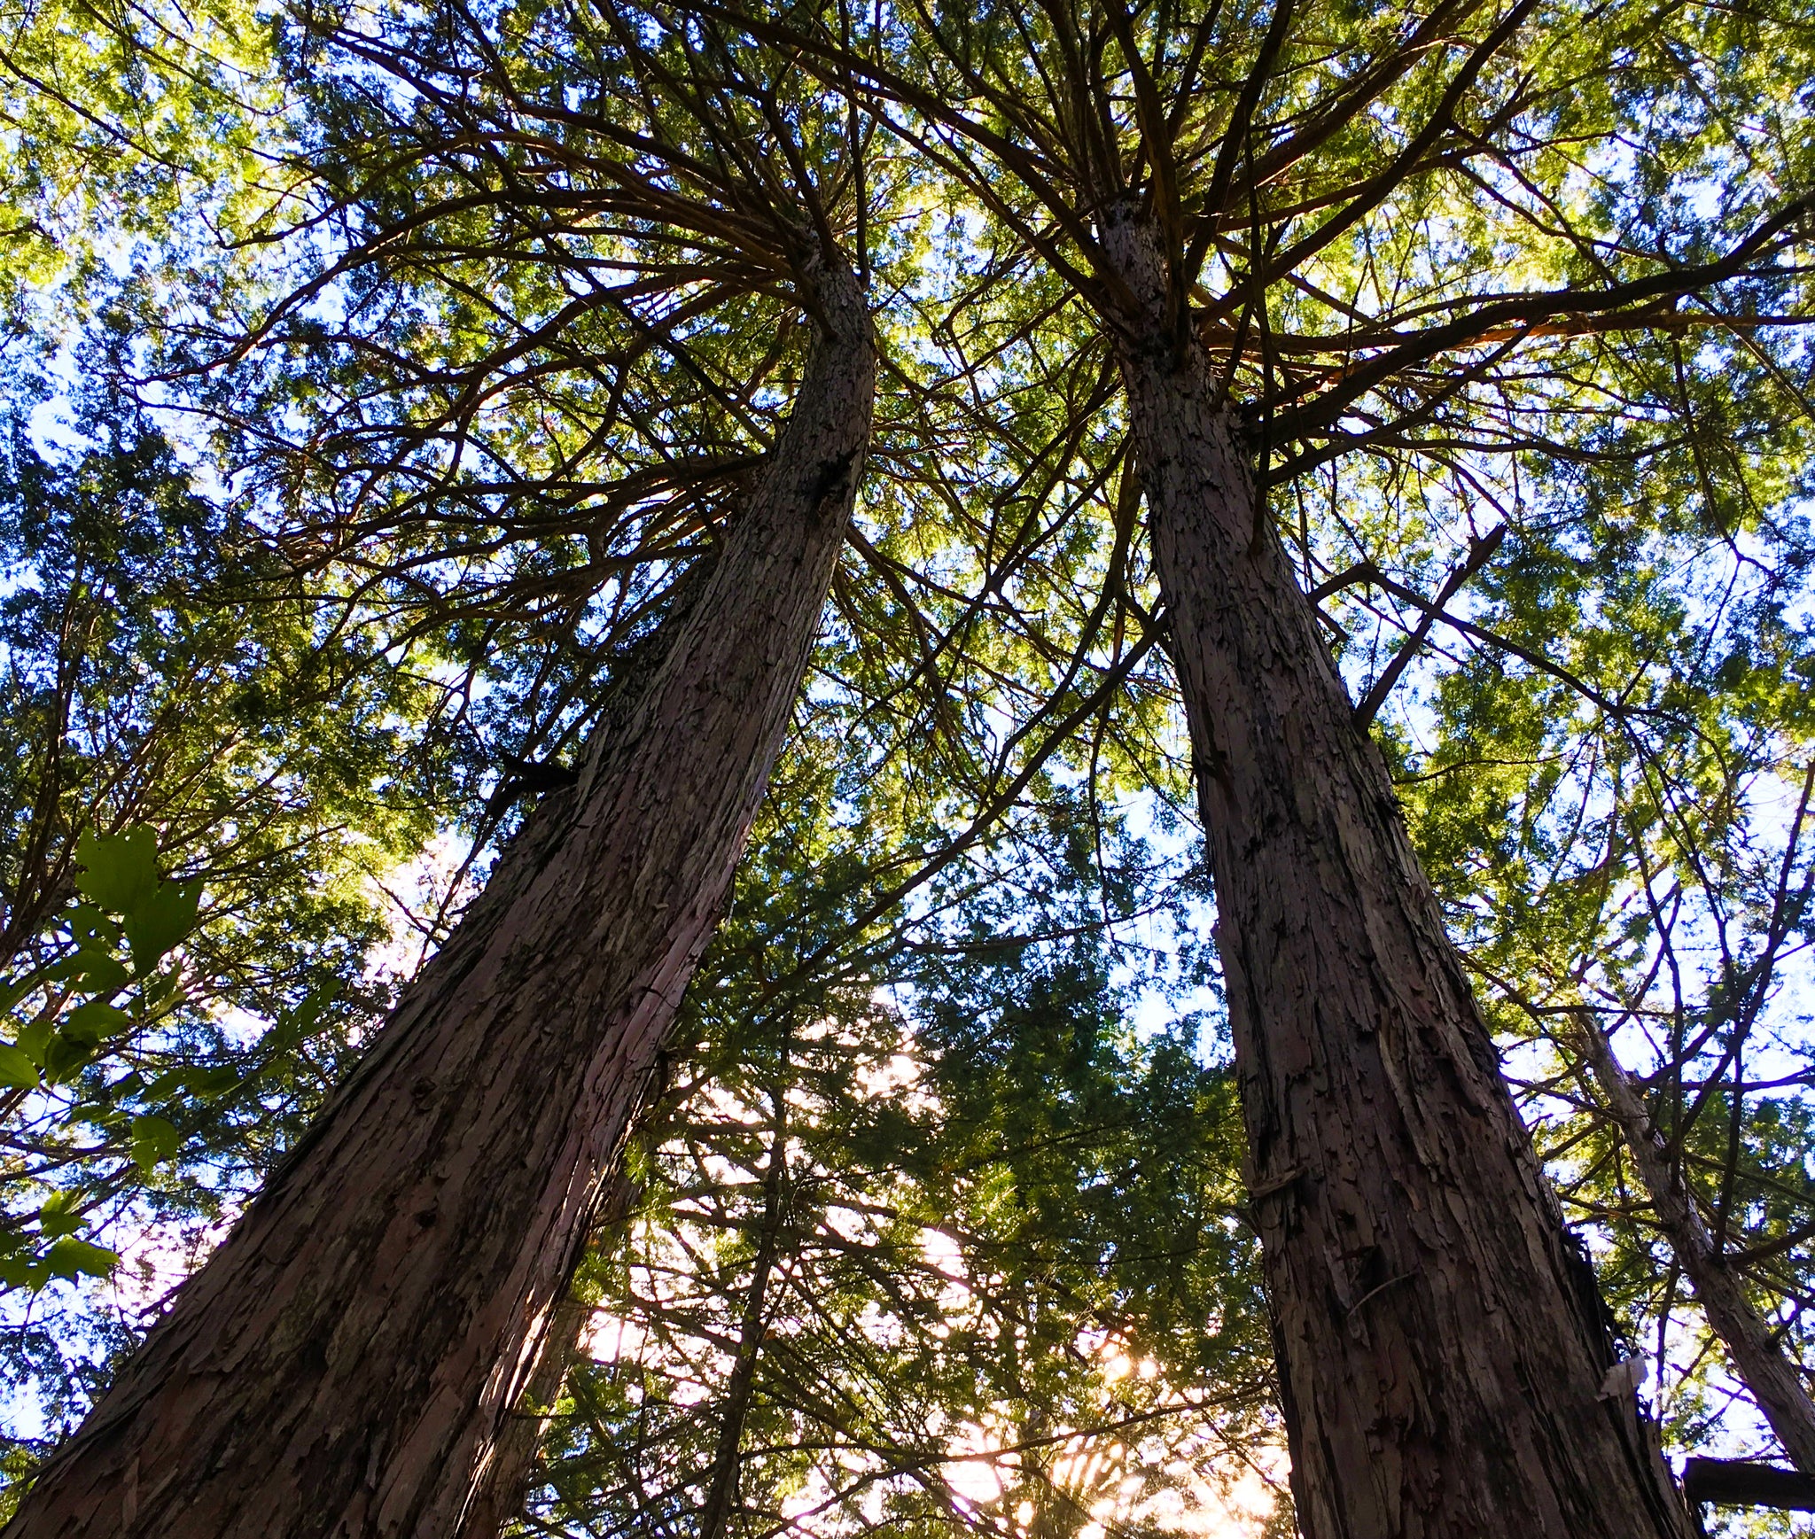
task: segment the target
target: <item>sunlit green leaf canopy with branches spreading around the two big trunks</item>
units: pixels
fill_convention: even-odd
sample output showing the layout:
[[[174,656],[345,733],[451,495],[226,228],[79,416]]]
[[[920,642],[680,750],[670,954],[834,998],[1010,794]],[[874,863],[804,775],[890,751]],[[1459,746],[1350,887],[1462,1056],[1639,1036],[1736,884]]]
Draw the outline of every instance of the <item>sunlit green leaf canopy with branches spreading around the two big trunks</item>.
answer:
[[[837,247],[886,365],[858,517],[637,1218],[581,1279],[617,1347],[570,1374],[525,1521],[1071,1535],[1276,1475],[1096,245],[1120,201],[1245,410],[1672,1446],[1768,1446],[1570,1029],[1612,1033],[1808,1361],[1808,7],[42,7],[9,36],[20,325],[132,403],[53,452],[22,394],[7,459],[22,1298],[83,1270],[65,1240],[225,1212],[292,1136],[370,993],[370,873],[470,849],[432,946],[512,828],[501,755],[608,728]],[[143,969],[143,895],[78,871],[140,829],[145,893],[200,895]],[[45,1321],[15,1381],[64,1361]]]

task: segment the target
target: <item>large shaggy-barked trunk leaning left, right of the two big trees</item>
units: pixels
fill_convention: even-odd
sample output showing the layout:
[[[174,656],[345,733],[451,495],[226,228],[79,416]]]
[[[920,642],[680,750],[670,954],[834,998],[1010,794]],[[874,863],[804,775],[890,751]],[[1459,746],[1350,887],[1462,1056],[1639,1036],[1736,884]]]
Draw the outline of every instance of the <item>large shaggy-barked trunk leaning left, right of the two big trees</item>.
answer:
[[[1149,223],[1104,247],[1216,878],[1309,1539],[1677,1539],[1686,1514],[1499,1074],[1385,764],[1270,534]]]

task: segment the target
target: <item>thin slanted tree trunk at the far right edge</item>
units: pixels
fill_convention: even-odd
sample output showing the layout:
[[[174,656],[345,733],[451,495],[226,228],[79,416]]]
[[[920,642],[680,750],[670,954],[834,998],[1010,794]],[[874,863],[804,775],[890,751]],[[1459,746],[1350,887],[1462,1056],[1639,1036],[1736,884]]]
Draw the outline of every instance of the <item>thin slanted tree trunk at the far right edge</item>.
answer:
[[[1784,1445],[1784,1452],[1806,1475],[1815,1475],[1815,1405],[1795,1365],[1771,1336],[1770,1321],[1751,1307],[1741,1279],[1726,1265],[1721,1247],[1708,1232],[1695,1198],[1664,1152],[1664,1140],[1652,1127],[1650,1113],[1614,1049],[1588,1011],[1577,1016],[1577,1040],[1594,1071],[1595,1083],[1614,1122],[1626,1138],[1639,1180],[1652,1198],[1657,1227],[1664,1230],[1708,1325],[1721,1338],[1733,1367],[1746,1381],[1766,1421]]]

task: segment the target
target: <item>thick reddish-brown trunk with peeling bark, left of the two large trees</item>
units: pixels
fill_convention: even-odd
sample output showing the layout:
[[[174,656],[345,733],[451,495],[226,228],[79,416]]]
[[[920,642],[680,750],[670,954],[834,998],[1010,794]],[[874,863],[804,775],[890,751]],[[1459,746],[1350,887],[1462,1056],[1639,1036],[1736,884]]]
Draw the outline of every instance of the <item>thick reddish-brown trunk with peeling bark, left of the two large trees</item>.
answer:
[[[793,417],[584,800],[559,793],[572,822],[517,840],[7,1539],[459,1530],[724,906],[844,539],[875,348],[848,270],[809,287]]]

